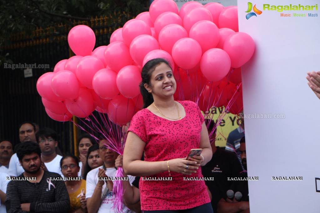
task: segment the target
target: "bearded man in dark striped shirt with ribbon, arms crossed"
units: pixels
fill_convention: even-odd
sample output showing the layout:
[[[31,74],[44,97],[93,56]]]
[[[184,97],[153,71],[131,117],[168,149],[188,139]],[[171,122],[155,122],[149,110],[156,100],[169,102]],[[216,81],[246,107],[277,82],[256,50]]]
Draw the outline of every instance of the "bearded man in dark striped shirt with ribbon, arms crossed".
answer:
[[[67,213],[70,199],[66,185],[59,174],[41,169],[39,145],[26,141],[17,149],[17,156],[24,172],[12,178],[7,186],[7,213]]]

